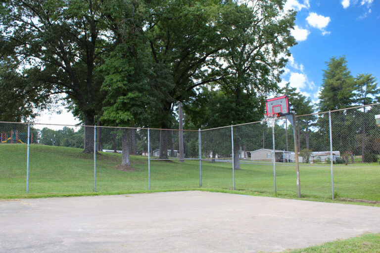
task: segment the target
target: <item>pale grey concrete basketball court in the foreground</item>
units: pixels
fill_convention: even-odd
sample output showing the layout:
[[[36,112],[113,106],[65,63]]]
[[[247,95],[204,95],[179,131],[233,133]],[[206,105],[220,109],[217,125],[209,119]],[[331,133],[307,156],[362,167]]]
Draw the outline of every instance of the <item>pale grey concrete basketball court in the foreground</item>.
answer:
[[[0,252],[281,252],[380,232],[380,208],[201,191],[0,201]]]

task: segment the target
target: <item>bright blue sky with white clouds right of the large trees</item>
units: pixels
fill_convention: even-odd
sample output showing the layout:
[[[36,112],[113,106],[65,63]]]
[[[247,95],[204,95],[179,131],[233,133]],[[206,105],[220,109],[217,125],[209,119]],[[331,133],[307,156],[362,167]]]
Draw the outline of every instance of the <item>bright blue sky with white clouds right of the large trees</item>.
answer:
[[[341,55],[353,76],[380,78],[380,0],[288,0],[285,8],[297,11],[292,34],[298,44],[281,85],[290,82],[317,102],[325,62]]]

